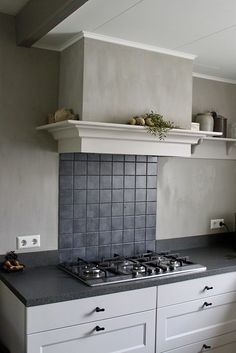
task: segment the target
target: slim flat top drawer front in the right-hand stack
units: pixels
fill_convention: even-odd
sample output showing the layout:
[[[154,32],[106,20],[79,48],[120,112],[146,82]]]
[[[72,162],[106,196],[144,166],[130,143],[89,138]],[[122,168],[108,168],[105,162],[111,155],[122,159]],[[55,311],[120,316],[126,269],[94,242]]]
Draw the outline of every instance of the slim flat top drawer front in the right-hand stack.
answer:
[[[236,272],[165,284],[158,287],[157,306],[183,303],[232,291],[236,291]]]

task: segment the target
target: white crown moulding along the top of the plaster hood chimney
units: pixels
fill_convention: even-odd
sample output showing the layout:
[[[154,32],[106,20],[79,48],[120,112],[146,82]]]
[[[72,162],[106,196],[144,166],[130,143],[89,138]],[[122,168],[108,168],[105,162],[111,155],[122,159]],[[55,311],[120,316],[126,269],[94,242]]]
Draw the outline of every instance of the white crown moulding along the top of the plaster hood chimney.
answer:
[[[181,51],[176,51],[176,50],[171,50],[171,49],[166,49],[166,48],[160,48],[160,47],[156,47],[155,45],[149,45],[149,44],[144,44],[144,43],[139,43],[139,42],[132,42],[132,41],[121,39],[121,38],[110,37],[110,36],[106,36],[106,35],[103,35],[103,34],[92,33],[92,32],[87,32],[87,31],[79,32],[73,38],[71,38],[68,41],[66,41],[60,47],[52,46],[51,50],[63,51],[66,48],[68,48],[69,46],[71,46],[72,44],[74,44],[77,41],[81,40],[82,38],[91,38],[91,39],[100,40],[100,41],[106,42],[106,43],[119,44],[119,45],[123,45],[123,46],[130,47],[130,48],[142,49],[142,50],[146,50],[146,51],[151,51],[151,52],[155,52],[155,53],[176,56],[176,57],[179,57],[179,58],[184,58],[184,59],[189,59],[189,60],[194,60],[196,58],[196,55],[184,53],[184,52],[181,52]],[[43,44],[42,45],[37,45],[37,43],[36,43],[35,46],[38,47],[38,48],[39,47],[43,48],[43,49],[50,49],[49,45],[46,45],[46,46],[44,46]]]

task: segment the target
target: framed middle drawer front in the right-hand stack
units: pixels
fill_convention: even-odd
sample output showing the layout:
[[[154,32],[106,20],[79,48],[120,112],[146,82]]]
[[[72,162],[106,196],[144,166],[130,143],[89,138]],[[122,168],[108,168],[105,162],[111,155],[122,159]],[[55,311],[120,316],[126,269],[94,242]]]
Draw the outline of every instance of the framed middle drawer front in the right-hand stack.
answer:
[[[157,310],[160,352],[232,331],[236,331],[236,292]]]

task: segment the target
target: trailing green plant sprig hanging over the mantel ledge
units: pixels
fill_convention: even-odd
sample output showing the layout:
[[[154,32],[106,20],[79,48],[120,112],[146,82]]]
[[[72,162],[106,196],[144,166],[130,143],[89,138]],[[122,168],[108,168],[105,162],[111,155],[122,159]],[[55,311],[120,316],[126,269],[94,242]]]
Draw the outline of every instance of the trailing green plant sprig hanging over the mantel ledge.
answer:
[[[153,111],[147,113],[146,118],[151,119],[152,122],[149,126],[145,125],[147,132],[153,136],[158,136],[159,140],[164,140],[168,131],[175,127],[173,122],[164,120],[162,115]]]

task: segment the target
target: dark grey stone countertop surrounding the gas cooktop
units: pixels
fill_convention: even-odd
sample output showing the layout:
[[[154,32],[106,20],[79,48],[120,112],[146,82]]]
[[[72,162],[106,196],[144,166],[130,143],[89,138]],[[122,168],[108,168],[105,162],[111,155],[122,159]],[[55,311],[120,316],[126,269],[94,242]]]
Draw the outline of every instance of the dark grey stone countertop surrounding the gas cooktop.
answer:
[[[30,307],[236,271],[236,251],[229,247],[195,248],[178,252],[182,255],[189,255],[192,261],[207,266],[207,271],[101,287],[88,287],[59,270],[56,266],[49,265],[26,268],[21,273],[0,272],[0,280],[11,289],[23,304]]]

